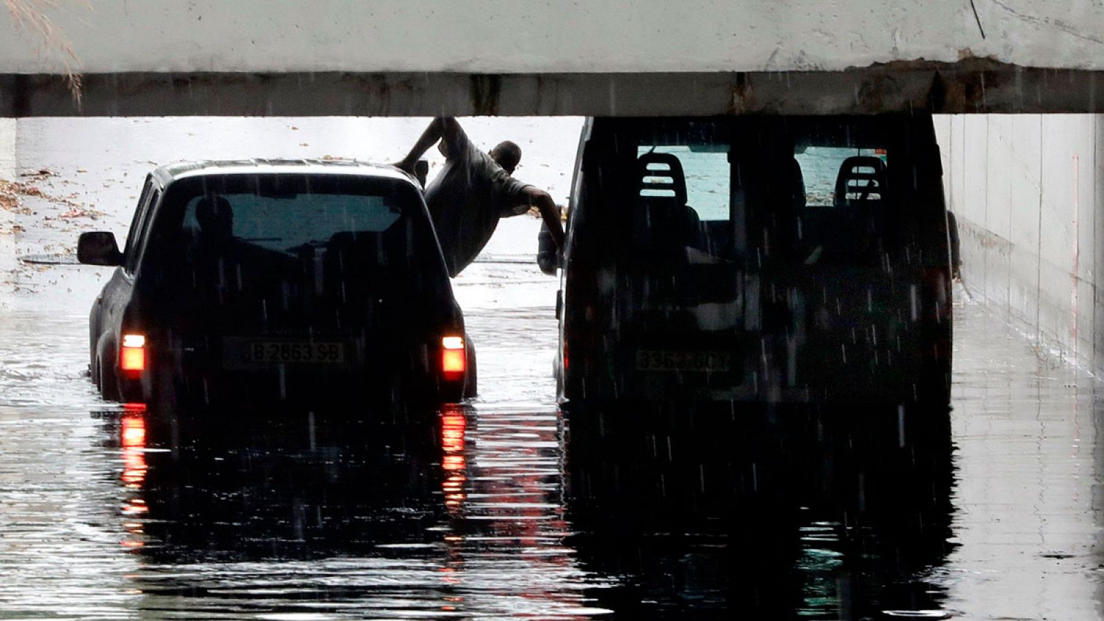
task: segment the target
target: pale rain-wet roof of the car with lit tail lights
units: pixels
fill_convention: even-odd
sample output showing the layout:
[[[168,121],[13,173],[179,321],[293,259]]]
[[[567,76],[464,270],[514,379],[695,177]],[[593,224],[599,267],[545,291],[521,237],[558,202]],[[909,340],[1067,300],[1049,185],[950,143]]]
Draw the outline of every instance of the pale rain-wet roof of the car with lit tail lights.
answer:
[[[227,159],[181,161],[158,167],[153,176],[162,185],[206,175],[350,175],[394,179],[417,186],[413,177],[393,166],[354,159]]]

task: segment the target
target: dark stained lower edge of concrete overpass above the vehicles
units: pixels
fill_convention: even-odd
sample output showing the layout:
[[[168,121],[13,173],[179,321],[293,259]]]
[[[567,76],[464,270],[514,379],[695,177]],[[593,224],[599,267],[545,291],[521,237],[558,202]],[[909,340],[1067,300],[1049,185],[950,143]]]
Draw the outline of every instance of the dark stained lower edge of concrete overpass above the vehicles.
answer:
[[[0,74],[0,116],[676,116],[1104,112],[1104,70],[987,59],[842,71]]]

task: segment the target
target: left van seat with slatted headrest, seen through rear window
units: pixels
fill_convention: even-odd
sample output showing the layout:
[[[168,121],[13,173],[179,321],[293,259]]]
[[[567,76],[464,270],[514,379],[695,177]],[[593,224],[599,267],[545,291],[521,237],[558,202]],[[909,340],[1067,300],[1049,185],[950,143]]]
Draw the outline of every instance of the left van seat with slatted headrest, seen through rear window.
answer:
[[[682,164],[673,154],[647,152],[636,160],[633,246],[660,261],[686,260],[686,248],[701,248],[701,219],[687,204]]]

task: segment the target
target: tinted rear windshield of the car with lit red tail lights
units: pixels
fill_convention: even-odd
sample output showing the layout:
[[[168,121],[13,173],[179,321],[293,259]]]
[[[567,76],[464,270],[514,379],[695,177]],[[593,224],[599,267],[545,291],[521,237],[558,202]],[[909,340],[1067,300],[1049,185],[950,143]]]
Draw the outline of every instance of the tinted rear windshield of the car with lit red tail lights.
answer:
[[[156,218],[140,273],[179,292],[316,310],[311,299],[450,295],[421,192],[400,179],[184,178],[167,188]]]

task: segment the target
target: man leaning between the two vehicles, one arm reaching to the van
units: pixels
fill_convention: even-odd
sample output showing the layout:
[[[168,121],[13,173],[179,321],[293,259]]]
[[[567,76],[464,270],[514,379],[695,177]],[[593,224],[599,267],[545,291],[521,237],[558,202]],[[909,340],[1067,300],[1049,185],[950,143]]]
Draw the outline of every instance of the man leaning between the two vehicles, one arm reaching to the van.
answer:
[[[438,140],[445,166],[426,186],[425,202],[450,276],[475,260],[500,218],[520,215],[531,207],[540,211],[556,248],[563,248],[560,210],[552,197],[511,177],[521,160],[521,148],[509,140],[484,152],[471,144],[455,118],[438,117],[395,166],[413,173],[418,158]]]

